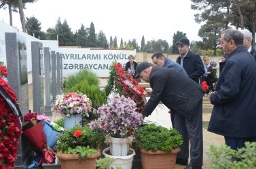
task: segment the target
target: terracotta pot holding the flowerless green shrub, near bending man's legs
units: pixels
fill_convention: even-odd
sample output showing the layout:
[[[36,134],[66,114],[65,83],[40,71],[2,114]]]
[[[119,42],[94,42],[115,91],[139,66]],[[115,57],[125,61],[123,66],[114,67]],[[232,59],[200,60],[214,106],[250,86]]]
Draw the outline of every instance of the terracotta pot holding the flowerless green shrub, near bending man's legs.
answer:
[[[166,151],[146,151],[141,148],[141,165],[143,169],[175,168],[177,153],[181,151],[179,147],[170,152]]]

